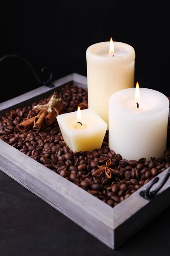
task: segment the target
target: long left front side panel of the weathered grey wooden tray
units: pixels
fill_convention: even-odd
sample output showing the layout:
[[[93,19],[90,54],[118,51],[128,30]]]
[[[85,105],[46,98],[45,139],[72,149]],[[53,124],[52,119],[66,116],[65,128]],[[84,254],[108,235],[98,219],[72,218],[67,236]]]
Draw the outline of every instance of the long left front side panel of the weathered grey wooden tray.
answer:
[[[113,211],[98,198],[3,141],[0,169],[109,247],[113,246]]]

